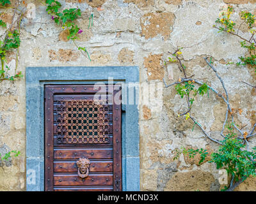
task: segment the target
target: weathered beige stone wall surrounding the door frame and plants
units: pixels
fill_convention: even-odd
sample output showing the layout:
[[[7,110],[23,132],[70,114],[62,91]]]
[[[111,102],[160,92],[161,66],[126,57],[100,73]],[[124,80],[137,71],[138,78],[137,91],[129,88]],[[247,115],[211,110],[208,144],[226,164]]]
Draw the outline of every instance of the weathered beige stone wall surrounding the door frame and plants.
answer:
[[[14,1],[12,1],[14,2]],[[223,92],[216,75],[207,67],[203,57],[211,55],[218,73],[223,78],[230,104],[237,111],[237,124],[250,129],[256,121],[255,89],[241,83],[255,84],[252,68],[225,66],[244,55],[236,36],[218,33],[212,28],[221,5],[234,5],[234,17],[241,22],[239,12],[256,13],[255,0],[66,0],[63,8],[80,8],[83,13],[77,24],[84,30],[77,45],[86,46],[92,62],[84,57],[67,33],[55,25],[40,1],[26,1],[36,5],[36,18],[22,20],[19,71],[26,66],[131,66],[140,67],[140,82],[172,83],[182,77],[177,65],[167,64],[168,51],[184,47],[182,57],[188,75],[211,82]],[[93,12],[93,27],[88,30]],[[12,13],[2,17],[9,24]],[[49,22],[40,24],[38,22]],[[246,36],[246,27],[243,28]],[[3,31],[1,30],[1,33]],[[187,48],[185,48],[187,47]],[[15,55],[8,57],[13,70]],[[211,136],[220,138],[226,106],[212,92],[208,97],[196,98],[191,114]],[[200,129],[191,131],[193,124],[177,117],[180,100],[174,87],[164,89],[163,108],[153,110],[140,106],[141,190],[143,191],[218,191],[220,177],[214,164],[198,166],[198,158],[181,156],[173,162],[173,150],[180,147],[216,150],[218,145],[204,137]],[[20,150],[21,156],[0,163],[0,190],[26,190],[26,96],[25,78],[0,83],[0,153]],[[251,140],[252,144],[255,140]],[[237,190],[255,190],[255,180],[241,184]]]

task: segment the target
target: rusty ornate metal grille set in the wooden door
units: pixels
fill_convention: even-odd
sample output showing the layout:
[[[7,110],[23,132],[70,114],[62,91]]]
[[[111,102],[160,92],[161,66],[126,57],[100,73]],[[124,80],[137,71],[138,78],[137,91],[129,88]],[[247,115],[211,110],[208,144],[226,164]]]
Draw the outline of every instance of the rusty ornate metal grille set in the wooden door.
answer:
[[[57,101],[57,143],[109,143],[109,106],[99,100]]]

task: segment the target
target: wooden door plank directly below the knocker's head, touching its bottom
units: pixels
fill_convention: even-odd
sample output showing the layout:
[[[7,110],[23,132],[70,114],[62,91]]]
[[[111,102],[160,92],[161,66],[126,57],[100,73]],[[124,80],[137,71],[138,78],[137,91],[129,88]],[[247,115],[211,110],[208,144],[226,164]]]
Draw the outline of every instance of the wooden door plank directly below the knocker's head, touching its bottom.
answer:
[[[81,179],[77,174],[54,174],[54,186],[94,186],[113,185],[113,174],[89,174]]]

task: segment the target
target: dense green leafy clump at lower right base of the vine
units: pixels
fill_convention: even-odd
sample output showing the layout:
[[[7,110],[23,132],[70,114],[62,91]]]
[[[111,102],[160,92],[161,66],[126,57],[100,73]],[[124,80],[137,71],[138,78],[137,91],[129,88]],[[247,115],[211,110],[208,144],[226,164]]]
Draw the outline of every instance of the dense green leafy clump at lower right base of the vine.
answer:
[[[232,130],[225,139],[221,141],[217,152],[208,152],[206,149],[185,149],[181,147],[179,150],[175,149],[175,156],[173,160],[177,160],[180,154],[188,155],[189,158],[194,158],[196,154],[200,154],[199,165],[204,163],[205,158],[209,155],[210,160],[208,163],[215,163],[218,170],[224,168],[227,170],[228,176],[231,176],[232,187],[233,182],[243,182],[250,175],[256,176],[255,165],[256,165],[256,147],[252,148],[252,151],[245,149],[246,145],[243,140],[236,138],[236,133],[234,133],[234,128],[232,125],[229,126]],[[221,191],[228,190],[228,186],[225,186]]]

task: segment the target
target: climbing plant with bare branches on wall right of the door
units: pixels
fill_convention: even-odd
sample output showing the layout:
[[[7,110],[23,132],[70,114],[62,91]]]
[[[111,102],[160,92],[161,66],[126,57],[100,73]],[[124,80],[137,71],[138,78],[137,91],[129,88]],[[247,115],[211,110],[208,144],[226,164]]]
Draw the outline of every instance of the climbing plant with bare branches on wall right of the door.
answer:
[[[241,13],[241,18],[243,19],[242,24],[248,25],[248,29],[251,33],[249,39],[245,39],[239,35],[239,29],[241,25],[239,25],[236,33],[234,26],[236,25],[231,18],[231,14],[234,9],[231,6],[228,6],[227,11],[221,13],[221,18],[216,20],[216,24],[214,27],[219,30],[219,32],[226,32],[237,36],[241,40],[241,47],[246,48],[248,53],[245,56],[239,57],[239,62],[228,62],[227,64],[236,64],[237,66],[249,66],[256,69],[256,55],[255,55],[255,30],[253,29],[253,24],[255,23],[255,16],[252,13],[243,11]],[[220,24],[218,26],[218,24]],[[253,125],[251,131],[242,131],[242,128],[239,129],[237,125],[234,123],[234,108],[230,106],[228,92],[225,87],[225,83],[223,82],[220,75],[216,71],[216,68],[212,65],[211,57],[204,57],[205,62],[209,68],[214,71],[216,77],[220,80],[221,85],[225,94],[221,94],[220,92],[216,91],[213,87],[208,85],[206,82],[200,82],[196,80],[194,75],[187,77],[186,74],[186,66],[182,64],[182,59],[180,55],[182,54],[182,48],[177,48],[177,50],[172,54],[172,57],[169,57],[169,62],[178,63],[179,69],[182,71],[184,77],[179,78],[178,82],[174,82],[173,84],[167,85],[164,81],[165,87],[171,87],[175,85],[175,89],[177,94],[180,98],[186,98],[186,105],[187,110],[183,113],[178,113],[178,117],[183,116],[186,120],[191,120],[193,122],[193,129],[195,126],[201,129],[204,135],[211,140],[212,142],[216,142],[220,145],[220,148],[217,152],[213,152],[211,154],[211,159],[209,163],[215,163],[217,169],[224,168],[227,170],[228,175],[232,178],[230,184],[225,186],[223,191],[233,191],[241,182],[247,179],[250,175],[253,177],[256,176],[255,168],[256,168],[256,147],[253,147],[250,150],[248,140],[255,136],[256,133],[254,129],[256,127],[256,123]],[[247,82],[243,82],[248,84]],[[250,84],[248,84],[250,85]],[[253,85],[250,85],[254,87]],[[225,114],[225,121],[223,122],[222,129],[220,131],[220,135],[223,137],[223,140],[217,140],[210,136],[207,131],[203,128],[201,124],[199,124],[195,117],[191,115],[191,108],[193,103],[195,102],[195,96],[200,95],[204,96],[207,92],[212,91],[216,94],[216,96],[220,97],[225,104],[227,105],[227,110]],[[228,124],[228,120],[231,122]],[[228,134],[223,134],[225,128],[229,129]],[[200,154],[200,161],[199,164],[202,164],[205,161],[205,158],[209,155],[209,152],[204,149],[185,149],[182,147],[179,150],[175,150],[175,157],[173,158],[178,159],[180,154],[187,154],[189,157],[195,157],[196,154]]]

